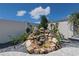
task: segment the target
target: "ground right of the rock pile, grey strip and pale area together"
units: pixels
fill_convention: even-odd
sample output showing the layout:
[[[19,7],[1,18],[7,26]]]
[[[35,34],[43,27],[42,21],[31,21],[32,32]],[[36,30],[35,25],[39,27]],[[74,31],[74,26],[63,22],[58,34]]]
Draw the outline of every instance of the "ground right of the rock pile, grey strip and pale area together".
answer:
[[[62,48],[48,53],[48,56],[79,56],[79,41],[70,41],[62,44]]]

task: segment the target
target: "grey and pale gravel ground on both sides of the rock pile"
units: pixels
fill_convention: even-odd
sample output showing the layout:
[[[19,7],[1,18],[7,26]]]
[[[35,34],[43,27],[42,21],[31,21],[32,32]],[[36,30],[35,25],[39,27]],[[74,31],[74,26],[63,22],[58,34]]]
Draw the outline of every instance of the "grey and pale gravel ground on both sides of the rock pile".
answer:
[[[35,56],[35,54],[29,54],[25,50],[24,43],[0,49],[1,56]],[[50,52],[48,54],[39,54],[41,56],[79,56],[79,41],[70,41],[70,43],[62,44],[62,48]]]

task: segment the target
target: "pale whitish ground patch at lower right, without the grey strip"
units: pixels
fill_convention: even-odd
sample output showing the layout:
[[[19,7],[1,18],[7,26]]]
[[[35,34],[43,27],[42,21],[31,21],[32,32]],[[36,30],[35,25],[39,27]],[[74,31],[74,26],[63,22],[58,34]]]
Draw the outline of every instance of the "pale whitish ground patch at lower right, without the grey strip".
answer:
[[[65,47],[58,51],[51,52],[48,56],[79,56],[79,48],[75,47]]]

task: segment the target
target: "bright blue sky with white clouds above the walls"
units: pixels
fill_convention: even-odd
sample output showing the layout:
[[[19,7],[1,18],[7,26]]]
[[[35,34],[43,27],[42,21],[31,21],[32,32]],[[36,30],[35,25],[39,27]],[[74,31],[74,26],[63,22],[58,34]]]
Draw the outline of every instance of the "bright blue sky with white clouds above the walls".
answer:
[[[62,20],[73,12],[79,12],[79,4],[0,4],[0,18],[16,21],[39,22],[41,15],[49,20]]]

